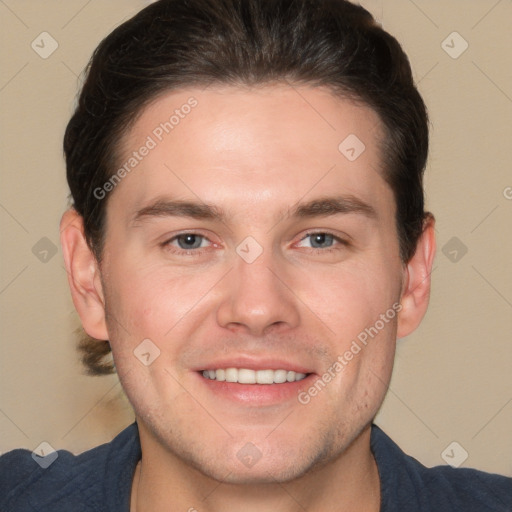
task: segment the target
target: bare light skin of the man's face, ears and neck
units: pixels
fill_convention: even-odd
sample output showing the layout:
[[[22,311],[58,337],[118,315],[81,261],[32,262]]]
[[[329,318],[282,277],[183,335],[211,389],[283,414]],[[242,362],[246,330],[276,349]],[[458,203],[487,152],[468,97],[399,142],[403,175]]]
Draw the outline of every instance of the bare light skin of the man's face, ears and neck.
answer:
[[[165,94],[121,141],[122,156],[191,96],[198,105],[110,193],[101,266],[81,217],[70,210],[62,219],[75,306],[89,335],[110,340],[139,425],[132,510],[377,511],[370,425],[395,341],[427,308],[433,219],[404,264],[382,177],[381,122],[322,88]],[[349,134],[365,144],[354,161],[338,150]],[[374,214],[294,215],[340,196]],[[224,217],[137,216],[157,200],[207,204]],[[184,232],[204,237],[201,247],[182,249]],[[248,236],[262,249],[252,263],[236,251]],[[307,404],[295,395],[234,400],[197,372],[226,357],[275,358],[306,368],[307,390],[398,303],[400,313]],[[148,338],[160,355],[145,366],[134,350]],[[247,443],[261,454],[252,467],[237,457]]]

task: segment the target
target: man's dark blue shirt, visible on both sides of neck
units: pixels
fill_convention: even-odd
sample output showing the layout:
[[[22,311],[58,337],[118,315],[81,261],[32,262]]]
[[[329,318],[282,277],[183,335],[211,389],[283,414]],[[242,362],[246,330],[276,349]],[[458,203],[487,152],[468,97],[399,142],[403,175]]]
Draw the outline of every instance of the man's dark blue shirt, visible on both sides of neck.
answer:
[[[512,512],[512,478],[426,468],[375,425],[371,448],[379,468],[381,512]],[[129,512],[141,457],[135,423],[111,443],[81,455],[57,453],[46,469],[28,450],[0,457],[0,512]]]

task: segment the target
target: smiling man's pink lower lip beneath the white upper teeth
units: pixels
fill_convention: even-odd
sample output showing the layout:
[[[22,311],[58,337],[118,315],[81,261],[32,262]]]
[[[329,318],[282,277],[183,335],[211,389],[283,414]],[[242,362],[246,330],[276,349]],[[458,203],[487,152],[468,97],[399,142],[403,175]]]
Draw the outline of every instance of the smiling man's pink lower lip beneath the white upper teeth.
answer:
[[[309,374],[302,380],[282,384],[238,384],[206,379],[200,373],[197,376],[216,396],[246,405],[275,405],[297,400],[300,391],[307,389],[314,379],[314,374]]]

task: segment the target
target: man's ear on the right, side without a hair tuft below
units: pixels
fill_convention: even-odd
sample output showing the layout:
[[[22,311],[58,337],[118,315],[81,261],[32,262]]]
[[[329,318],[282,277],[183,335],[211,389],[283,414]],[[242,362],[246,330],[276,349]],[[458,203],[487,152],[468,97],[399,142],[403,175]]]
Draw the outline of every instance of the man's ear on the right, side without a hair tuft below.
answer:
[[[404,282],[398,315],[398,338],[411,334],[427,311],[430,298],[430,275],[436,252],[435,219],[431,213],[423,223],[423,232],[416,245],[416,252],[404,269]]]

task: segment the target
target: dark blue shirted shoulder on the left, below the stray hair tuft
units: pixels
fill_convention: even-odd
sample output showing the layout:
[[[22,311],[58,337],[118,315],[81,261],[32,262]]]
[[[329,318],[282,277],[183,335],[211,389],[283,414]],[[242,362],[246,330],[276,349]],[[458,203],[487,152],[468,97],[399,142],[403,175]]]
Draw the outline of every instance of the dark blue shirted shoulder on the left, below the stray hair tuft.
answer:
[[[127,499],[139,459],[136,424],[111,443],[80,455],[59,450],[38,457],[28,450],[13,450],[0,457],[0,510],[109,510],[109,500],[116,498],[119,505]]]

